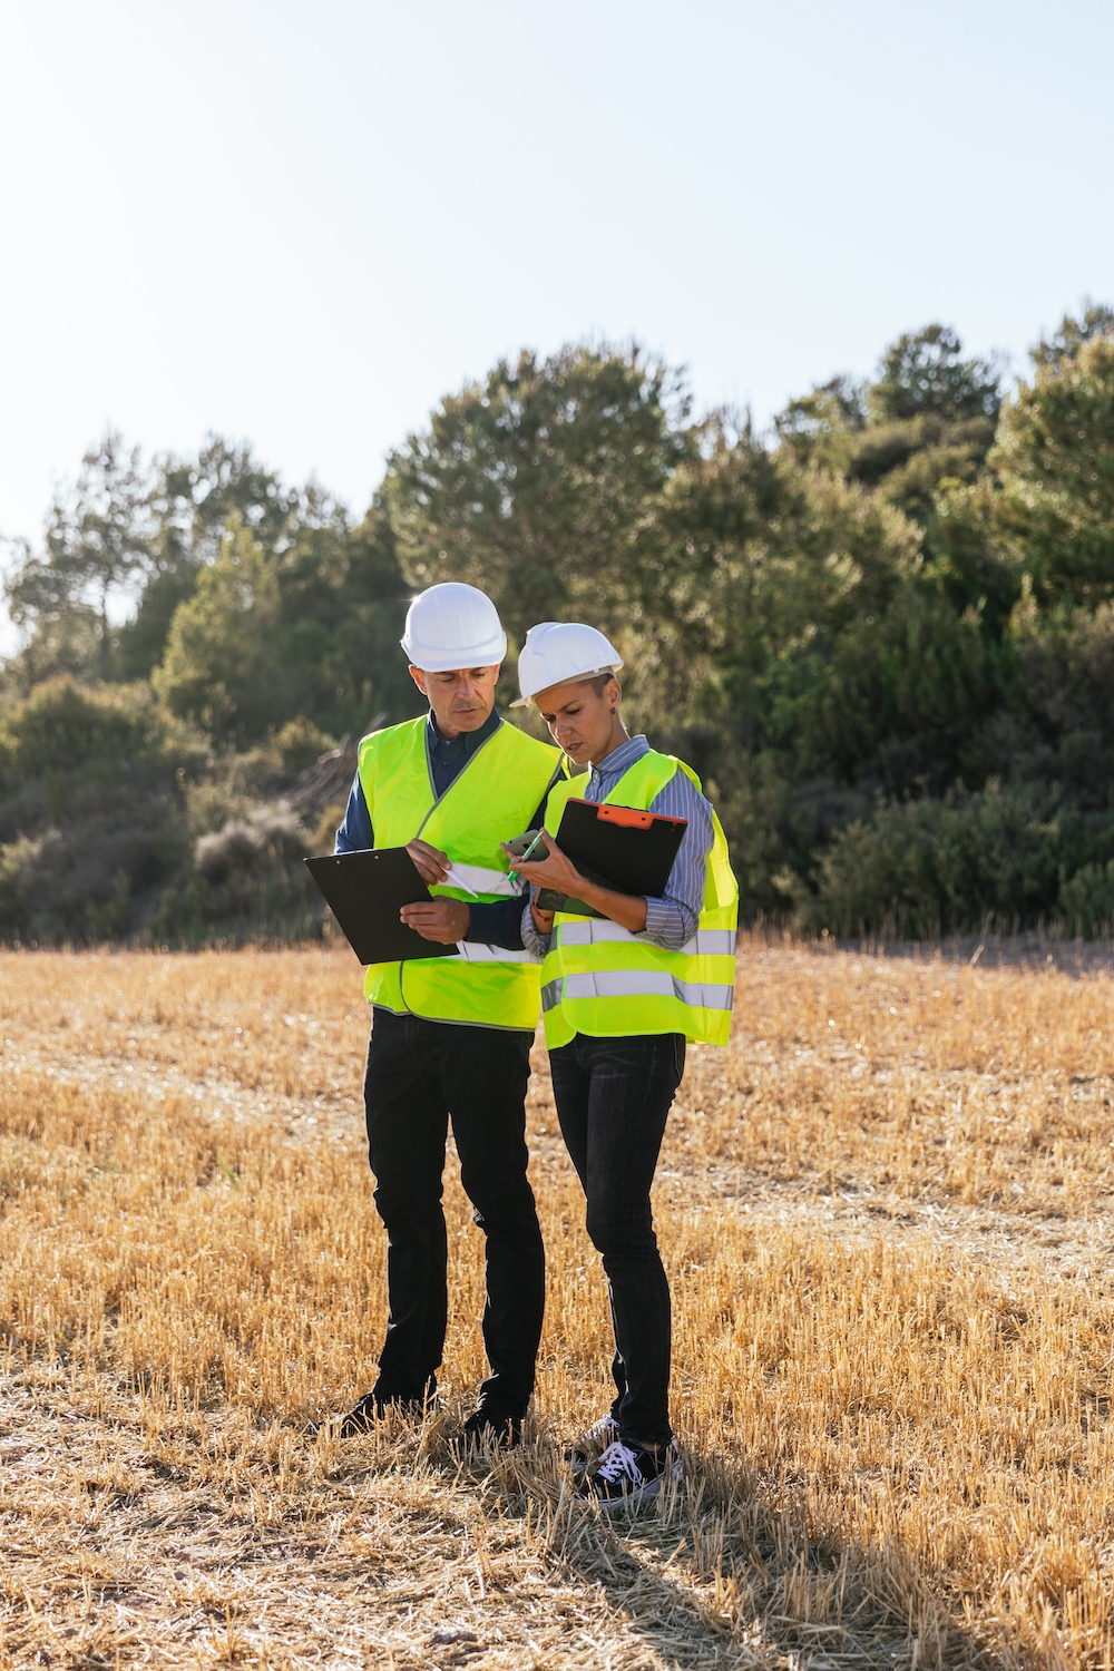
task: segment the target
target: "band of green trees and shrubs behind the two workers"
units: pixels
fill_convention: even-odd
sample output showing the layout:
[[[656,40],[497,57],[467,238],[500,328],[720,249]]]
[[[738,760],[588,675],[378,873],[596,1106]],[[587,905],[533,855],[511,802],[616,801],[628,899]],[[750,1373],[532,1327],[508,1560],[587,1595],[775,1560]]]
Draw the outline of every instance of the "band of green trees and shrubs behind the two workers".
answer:
[[[418,712],[409,595],[518,650],[583,618],[705,775],[745,912],[835,934],[1114,924],[1114,311],[1004,368],[930,326],[767,436],[638,349],[446,398],[362,521],[247,448],[119,436],[7,587],[0,936],[312,932],[354,740]],[[513,667],[503,682],[514,695]]]

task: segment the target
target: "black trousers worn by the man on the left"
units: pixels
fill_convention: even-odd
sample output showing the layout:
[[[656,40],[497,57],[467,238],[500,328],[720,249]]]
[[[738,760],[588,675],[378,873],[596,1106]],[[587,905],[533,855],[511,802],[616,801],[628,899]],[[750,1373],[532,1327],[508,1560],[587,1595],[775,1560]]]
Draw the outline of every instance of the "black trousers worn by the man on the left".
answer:
[[[436,1389],[448,1320],[441,1208],[448,1121],[473,1218],[486,1235],[483,1335],[494,1420],[526,1414],[544,1310],[544,1248],[526,1178],[526,1081],[533,1034],[464,1028],[376,1009],[364,1106],[376,1206],[387,1228],[391,1317],[376,1395]]]

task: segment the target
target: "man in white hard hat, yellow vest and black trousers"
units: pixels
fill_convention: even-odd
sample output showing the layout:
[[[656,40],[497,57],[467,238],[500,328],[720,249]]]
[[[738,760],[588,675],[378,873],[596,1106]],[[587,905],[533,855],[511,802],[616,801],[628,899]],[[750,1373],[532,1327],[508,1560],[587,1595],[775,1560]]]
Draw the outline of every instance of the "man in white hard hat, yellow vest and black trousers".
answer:
[[[391,1315],[379,1377],[339,1432],[389,1407],[419,1414],[444,1347],[448,1121],[461,1181],[486,1237],[483,1333],[489,1377],[468,1439],[514,1442],[533,1394],[544,1253],[526,1178],[526,1083],[539,968],[521,939],[519,884],[501,842],[541,822],[560,750],[494,712],[506,633],[474,587],[431,587],[411,603],[403,648],[426,719],[364,737],[336,852],[404,846],[433,902],[403,907],[456,957],[372,964],[364,1106],[376,1206],[387,1228]],[[451,877],[449,877],[451,867]],[[464,886],[458,886],[463,882]]]

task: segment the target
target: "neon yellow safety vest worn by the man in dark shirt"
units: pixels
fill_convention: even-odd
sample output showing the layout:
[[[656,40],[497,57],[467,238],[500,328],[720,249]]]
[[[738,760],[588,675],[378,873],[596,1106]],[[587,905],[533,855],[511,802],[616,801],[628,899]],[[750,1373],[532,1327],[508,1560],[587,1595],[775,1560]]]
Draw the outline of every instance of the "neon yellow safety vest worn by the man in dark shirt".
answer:
[[[523,834],[560,759],[558,749],[504,722],[438,797],[426,755],[426,720],[372,732],[359,745],[359,782],[376,847],[404,847],[421,836],[449,856],[481,901],[513,897],[518,887],[499,842]],[[431,892],[469,899],[451,886]],[[454,957],[372,962],[364,994],[396,1014],[533,1031],[539,986],[541,969],[529,952],[461,941]]]

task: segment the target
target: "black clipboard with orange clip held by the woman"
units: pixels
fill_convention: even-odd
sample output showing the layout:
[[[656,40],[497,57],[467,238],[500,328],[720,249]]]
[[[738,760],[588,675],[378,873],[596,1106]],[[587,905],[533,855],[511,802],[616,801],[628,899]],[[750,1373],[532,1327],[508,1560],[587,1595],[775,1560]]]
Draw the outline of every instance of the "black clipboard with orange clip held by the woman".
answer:
[[[660,899],[686,829],[688,819],[570,797],[554,841],[590,882],[615,887],[620,894]],[[551,887],[538,894],[538,909],[600,916],[583,899],[568,899]]]

